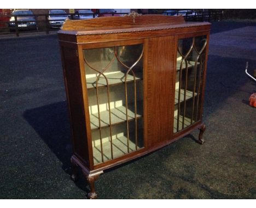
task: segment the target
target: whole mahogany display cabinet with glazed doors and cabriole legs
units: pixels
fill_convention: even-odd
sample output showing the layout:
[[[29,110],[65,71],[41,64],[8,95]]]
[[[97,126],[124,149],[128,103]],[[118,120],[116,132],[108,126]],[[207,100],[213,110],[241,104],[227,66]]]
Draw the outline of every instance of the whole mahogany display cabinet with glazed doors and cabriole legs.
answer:
[[[210,23],[138,15],[66,20],[58,32],[78,167],[96,198],[103,170],[199,129]]]

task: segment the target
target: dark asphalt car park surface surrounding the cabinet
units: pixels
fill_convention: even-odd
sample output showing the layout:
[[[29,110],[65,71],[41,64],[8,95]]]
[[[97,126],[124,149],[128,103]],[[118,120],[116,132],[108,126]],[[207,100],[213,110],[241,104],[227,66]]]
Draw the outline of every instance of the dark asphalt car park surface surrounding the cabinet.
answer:
[[[203,120],[198,131],[113,168],[96,181],[99,199],[255,199],[255,23],[215,22]],[[69,120],[57,35],[0,39],[0,198],[84,199],[69,179]]]

